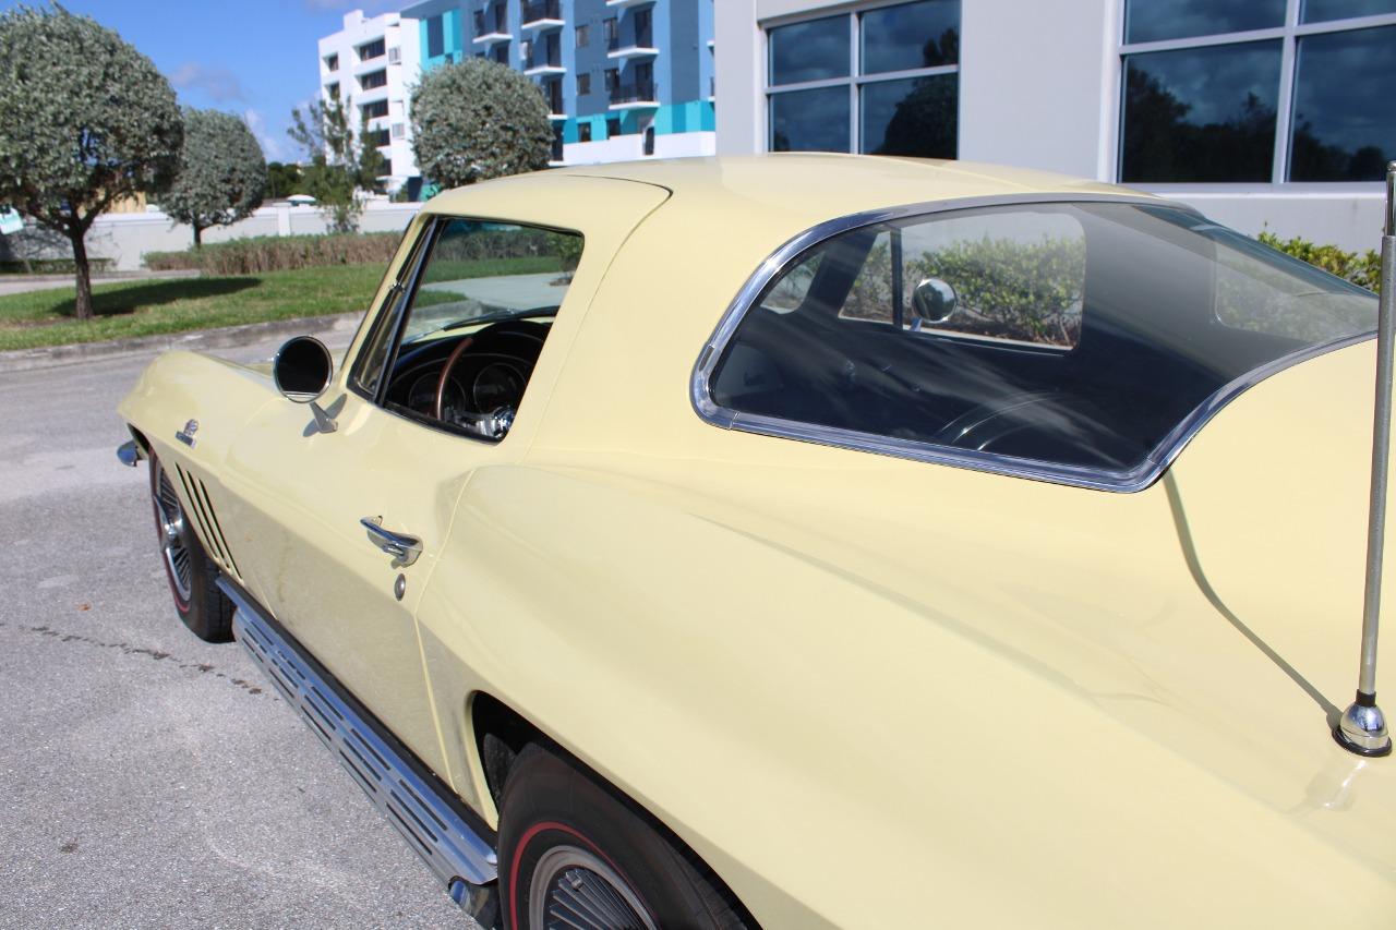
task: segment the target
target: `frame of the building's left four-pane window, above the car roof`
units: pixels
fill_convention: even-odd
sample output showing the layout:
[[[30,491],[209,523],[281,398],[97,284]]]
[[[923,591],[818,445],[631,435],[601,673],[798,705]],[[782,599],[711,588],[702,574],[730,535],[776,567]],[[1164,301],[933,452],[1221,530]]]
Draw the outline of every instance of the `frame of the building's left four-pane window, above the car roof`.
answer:
[[[768,21],[762,21],[761,25],[761,50],[762,50],[762,77],[761,77],[761,101],[765,109],[765,128],[762,135],[764,151],[775,151],[775,126],[771,121],[772,106],[771,101],[773,96],[780,94],[792,94],[799,91],[818,91],[822,88],[838,88],[846,87],[849,91],[849,152],[860,154],[863,148],[863,87],[867,84],[882,84],[886,81],[902,81],[906,78],[921,78],[921,77],[940,77],[945,74],[959,74],[963,67],[963,56],[955,64],[941,64],[930,68],[903,68],[900,71],[879,71],[877,74],[863,74],[863,14],[874,10],[885,10],[888,7],[903,7],[916,0],[874,0],[872,3],[860,3],[854,7],[835,10],[835,11],[819,11],[819,13],[800,13],[797,15],[780,17]],[[958,25],[960,36],[960,49],[965,47],[963,43],[963,24],[965,24],[965,0],[960,3],[960,22]],[[817,81],[799,81],[796,84],[772,84],[771,73],[771,31],[779,29],[780,27],[799,25],[801,22],[814,22],[818,20],[833,20],[838,17],[845,17],[852,20],[849,22],[849,74],[846,77],[835,78],[819,78]],[[959,123],[958,123],[959,102],[956,101],[956,127],[955,127],[955,158],[959,158]]]

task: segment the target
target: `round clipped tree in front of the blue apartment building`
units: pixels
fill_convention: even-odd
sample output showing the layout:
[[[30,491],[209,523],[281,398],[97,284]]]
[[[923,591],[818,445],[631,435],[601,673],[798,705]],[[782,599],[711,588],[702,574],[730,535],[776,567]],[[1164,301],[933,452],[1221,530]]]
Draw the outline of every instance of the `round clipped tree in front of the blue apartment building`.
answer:
[[[412,151],[443,187],[547,168],[553,127],[537,85],[486,59],[434,68],[412,91]]]

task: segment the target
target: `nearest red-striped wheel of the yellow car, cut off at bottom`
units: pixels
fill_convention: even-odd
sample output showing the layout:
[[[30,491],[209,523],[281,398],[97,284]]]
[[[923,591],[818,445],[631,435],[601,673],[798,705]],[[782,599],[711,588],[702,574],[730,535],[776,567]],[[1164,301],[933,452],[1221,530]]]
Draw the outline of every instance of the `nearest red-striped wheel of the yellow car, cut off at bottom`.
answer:
[[[577,764],[529,746],[500,803],[511,930],[659,930],[748,923],[706,866]]]

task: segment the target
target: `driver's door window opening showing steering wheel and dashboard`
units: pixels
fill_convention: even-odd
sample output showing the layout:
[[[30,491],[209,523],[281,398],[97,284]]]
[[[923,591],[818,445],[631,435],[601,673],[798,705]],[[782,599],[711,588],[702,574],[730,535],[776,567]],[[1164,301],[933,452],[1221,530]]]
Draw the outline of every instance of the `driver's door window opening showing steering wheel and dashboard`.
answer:
[[[436,219],[366,344],[359,384],[395,413],[504,438],[581,256],[575,232]]]

